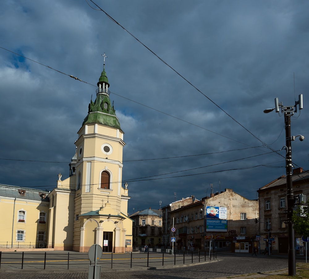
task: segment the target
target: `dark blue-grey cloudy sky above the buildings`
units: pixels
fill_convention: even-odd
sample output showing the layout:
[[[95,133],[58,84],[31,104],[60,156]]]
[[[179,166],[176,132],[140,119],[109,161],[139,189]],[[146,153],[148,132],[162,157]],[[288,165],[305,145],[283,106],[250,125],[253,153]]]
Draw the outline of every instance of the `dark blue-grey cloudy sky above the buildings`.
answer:
[[[1,1],[1,184],[51,189],[69,176],[103,53],[129,213],[174,193],[201,199],[210,184],[256,199],[286,172],[284,117],[263,113],[276,97],[293,106],[303,94],[292,159],[309,168],[309,2],[94,2]]]

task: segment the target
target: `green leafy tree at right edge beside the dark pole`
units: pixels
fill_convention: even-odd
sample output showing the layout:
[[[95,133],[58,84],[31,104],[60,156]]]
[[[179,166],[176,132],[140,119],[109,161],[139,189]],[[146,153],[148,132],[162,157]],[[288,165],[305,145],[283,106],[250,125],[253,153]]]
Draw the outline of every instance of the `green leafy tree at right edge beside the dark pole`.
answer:
[[[302,203],[293,211],[292,221],[296,233],[309,237],[309,206],[307,203]]]

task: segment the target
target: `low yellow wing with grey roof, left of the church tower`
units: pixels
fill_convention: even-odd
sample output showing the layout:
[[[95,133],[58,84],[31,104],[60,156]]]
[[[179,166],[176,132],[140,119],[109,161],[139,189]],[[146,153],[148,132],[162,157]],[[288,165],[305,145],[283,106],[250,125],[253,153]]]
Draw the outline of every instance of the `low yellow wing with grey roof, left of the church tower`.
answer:
[[[0,185],[0,249],[47,246],[48,193],[31,188]]]

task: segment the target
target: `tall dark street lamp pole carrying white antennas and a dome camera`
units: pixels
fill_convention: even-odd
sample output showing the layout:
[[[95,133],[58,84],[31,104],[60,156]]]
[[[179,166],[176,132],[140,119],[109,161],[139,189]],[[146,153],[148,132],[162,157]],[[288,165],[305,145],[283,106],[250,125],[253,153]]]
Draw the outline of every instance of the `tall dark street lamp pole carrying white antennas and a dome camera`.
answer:
[[[293,207],[294,207],[294,194],[292,188],[292,146],[291,141],[294,141],[296,137],[299,137],[300,141],[304,140],[304,136],[291,136],[291,116],[294,112],[297,112],[297,105],[299,109],[303,109],[303,94],[298,96],[298,101],[295,101],[295,106],[283,106],[282,103],[278,102],[278,98],[275,98],[275,108],[265,109],[264,113],[272,112],[274,109],[276,112],[279,112],[279,107],[281,108],[281,113],[284,114],[284,123],[286,129],[286,188],[287,188],[287,223],[288,223],[288,241],[289,241],[289,250],[288,250],[288,260],[289,260],[289,276],[296,275],[296,261],[295,261],[295,234],[292,223]],[[295,110],[294,110],[295,108]]]

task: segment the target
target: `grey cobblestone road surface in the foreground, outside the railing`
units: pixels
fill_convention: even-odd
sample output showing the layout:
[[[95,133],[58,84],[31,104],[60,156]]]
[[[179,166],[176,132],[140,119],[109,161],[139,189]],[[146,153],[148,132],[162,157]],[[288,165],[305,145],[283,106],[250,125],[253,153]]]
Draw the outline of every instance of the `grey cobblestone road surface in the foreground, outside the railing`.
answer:
[[[303,260],[296,260],[296,262]],[[226,278],[241,276],[252,273],[267,273],[270,271],[286,270],[288,268],[288,260],[286,258],[264,257],[251,255],[225,255],[218,256],[217,260],[208,261],[206,263],[193,265],[178,265],[169,267],[149,267],[149,269],[127,269],[127,270],[110,270],[105,269],[101,272],[101,279],[210,279],[210,278]],[[280,273],[280,272],[278,272]],[[1,272],[2,279],[83,279],[88,278],[88,271],[81,270],[75,272],[57,272],[57,270],[49,270],[44,272],[20,272],[9,270]]]

